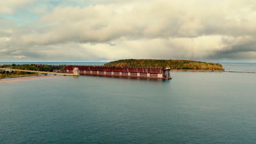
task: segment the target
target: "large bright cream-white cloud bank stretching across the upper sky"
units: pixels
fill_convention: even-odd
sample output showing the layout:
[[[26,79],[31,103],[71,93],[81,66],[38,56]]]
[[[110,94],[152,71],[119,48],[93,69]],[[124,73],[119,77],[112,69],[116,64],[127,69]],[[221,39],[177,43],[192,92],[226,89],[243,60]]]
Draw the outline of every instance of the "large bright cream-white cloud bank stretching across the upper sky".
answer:
[[[252,17],[256,17],[256,10],[253,7],[244,4],[234,9],[226,7],[230,1],[222,3],[160,0],[84,8],[57,7],[38,21],[38,25],[49,27],[36,29],[36,33],[26,34],[22,40],[25,44],[55,44],[65,41],[98,43],[120,37],[155,39],[215,34],[255,35],[256,19]],[[195,8],[198,5],[200,9]]]

